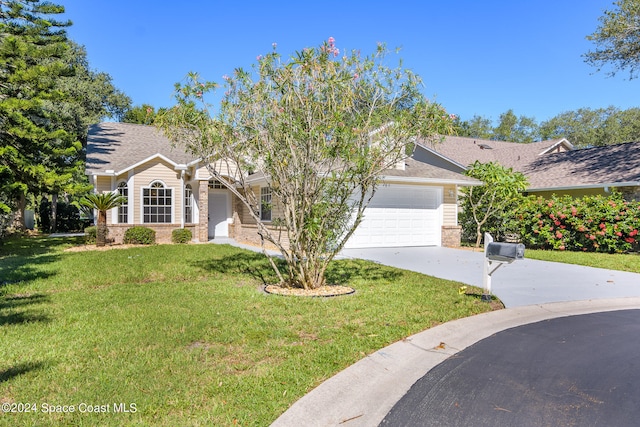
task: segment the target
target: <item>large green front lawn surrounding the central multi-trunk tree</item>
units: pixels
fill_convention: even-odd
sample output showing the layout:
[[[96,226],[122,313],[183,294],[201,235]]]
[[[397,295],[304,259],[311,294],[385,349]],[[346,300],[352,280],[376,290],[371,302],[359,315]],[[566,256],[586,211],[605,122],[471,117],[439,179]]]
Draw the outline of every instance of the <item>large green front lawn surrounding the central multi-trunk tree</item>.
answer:
[[[283,297],[262,292],[262,255],[231,246],[70,242],[0,245],[0,403],[36,410],[0,425],[265,426],[377,349],[491,310],[480,290],[364,261],[329,272],[353,295]]]

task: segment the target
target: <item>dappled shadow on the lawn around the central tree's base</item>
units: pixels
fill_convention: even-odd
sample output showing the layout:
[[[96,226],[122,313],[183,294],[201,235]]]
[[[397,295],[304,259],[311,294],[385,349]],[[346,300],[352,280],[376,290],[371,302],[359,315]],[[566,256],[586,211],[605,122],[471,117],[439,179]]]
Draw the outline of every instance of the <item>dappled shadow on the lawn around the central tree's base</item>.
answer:
[[[286,264],[281,258],[274,258],[274,262],[286,273]],[[222,274],[248,274],[262,284],[273,284],[278,281],[277,276],[267,258],[261,253],[237,252],[217,259],[198,261],[192,264],[196,268]],[[370,261],[337,260],[329,264],[326,271],[327,283],[346,285],[357,280],[395,280],[402,273]]]

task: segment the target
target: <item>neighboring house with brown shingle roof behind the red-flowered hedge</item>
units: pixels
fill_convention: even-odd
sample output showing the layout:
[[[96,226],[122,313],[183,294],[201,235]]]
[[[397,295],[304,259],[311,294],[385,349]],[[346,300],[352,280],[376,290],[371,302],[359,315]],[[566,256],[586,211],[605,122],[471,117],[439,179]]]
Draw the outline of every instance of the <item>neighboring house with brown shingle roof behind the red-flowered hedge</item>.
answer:
[[[476,160],[513,168],[527,177],[529,194],[580,197],[616,189],[628,199],[640,198],[640,142],[574,149],[564,138],[520,144],[449,136],[421,148],[424,156],[456,163],[456,171]]]

